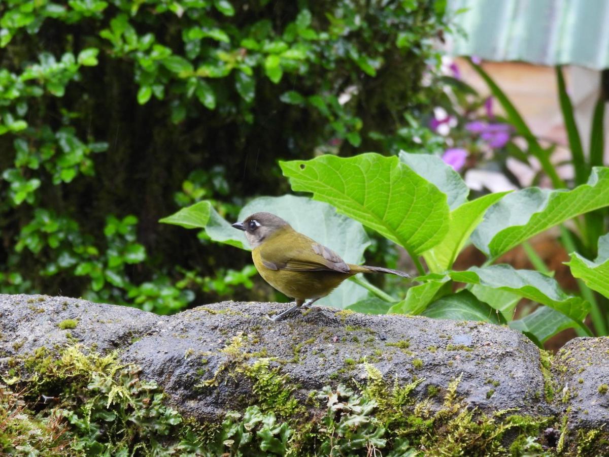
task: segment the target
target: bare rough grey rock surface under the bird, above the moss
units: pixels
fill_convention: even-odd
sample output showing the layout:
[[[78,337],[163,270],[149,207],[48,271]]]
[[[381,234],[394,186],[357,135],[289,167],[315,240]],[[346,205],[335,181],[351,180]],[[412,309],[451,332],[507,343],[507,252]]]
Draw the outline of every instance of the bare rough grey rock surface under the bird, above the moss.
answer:
[[[0,373],[13,356],[78,341],[97,351],[121,350],[123,360],[143,367],[143,377],[157,381],[178,409],[203,420],[251,396],[251,381],[230,372],[236,353],[247,364],[270,358],[303,398],[325,385],[364,382],[370,363],[399,384],[423,378],[416,391],[421,398],[429,386],[442,391],[461,377],[457,392],[471,407],[554,414],[544,399],[537,347],[507,327],[331,308],[278,323],[267,319],[284,306],[222,302],[157,316],[63,297],[0,295]],[[65,319],[76,319],[76,328],[61,330]],[[202,386],[214,376],[217,382],[209,384],[217,385]],[[598,405],[605,421],[606,407]]]

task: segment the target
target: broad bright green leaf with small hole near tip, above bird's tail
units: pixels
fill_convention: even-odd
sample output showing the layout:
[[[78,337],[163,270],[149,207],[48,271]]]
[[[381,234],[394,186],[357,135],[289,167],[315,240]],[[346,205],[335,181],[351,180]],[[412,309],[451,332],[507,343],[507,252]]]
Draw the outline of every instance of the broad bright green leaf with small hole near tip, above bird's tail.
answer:
[[[448,230],[446,195],[397,157],[360,154],[280,161],[292,189],[311,192],[413,257],[435,246]]]

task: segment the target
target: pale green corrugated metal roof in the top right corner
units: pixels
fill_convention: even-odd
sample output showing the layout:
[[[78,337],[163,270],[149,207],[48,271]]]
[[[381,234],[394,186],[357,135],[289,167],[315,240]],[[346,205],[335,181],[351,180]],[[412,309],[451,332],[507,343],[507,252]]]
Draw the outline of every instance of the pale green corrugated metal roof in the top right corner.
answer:
[[[609,68],[609,0],[449,0],[454,55]]]

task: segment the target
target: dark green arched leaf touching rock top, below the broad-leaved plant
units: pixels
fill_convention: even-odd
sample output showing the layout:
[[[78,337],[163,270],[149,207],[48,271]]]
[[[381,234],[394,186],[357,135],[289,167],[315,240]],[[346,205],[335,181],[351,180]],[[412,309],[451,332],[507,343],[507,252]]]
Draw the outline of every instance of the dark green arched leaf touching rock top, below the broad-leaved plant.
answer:
[[[481,302],[470,291],[460,291],[457,294],[447,295],[435,300],[427,307],[423,316],[434,319],[452,319],[453,321],[484,321],[493,324],[502,324],[495,309]]]

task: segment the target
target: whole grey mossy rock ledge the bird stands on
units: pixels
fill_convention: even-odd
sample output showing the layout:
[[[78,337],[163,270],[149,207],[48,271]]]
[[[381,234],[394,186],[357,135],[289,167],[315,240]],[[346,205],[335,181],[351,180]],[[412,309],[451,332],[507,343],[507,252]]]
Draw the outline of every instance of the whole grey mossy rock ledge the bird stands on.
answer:
[[[2,379],[11,398],[23,390],[28,427],[38,424],[44,434],[54,408],[79,418],[82,408],[94,410],[110,422],[104,430],[116,427],[118,438],[101,436],[102,448],[123,452],[120,444],[127,455],[367,455],[375,448],[383,456],[602,455],[606,422],[574,425],[577,395],[568,398],[568,414],[557,400],[564,372],[507,327],[330,308],[266,319],[283,306],[223,302],[155,316],[62,297],[0,296]],[[60,329],[66,319],[76,327]],[[111,362],[94,363],[104,357]],[[73,360],[82,362],[76,372]],[[139,406],[121,408],[135,414],[154,402],[162,433],[116,422],[124,403],[114,401],[131,383]],[[78,392],[96,385],[106,390],[93,408],[83,403],[93,397]],[[58,400],[35,406],[48,398]],[[70,452],[74,440],[85,440],[77,422],[60,421]]]

